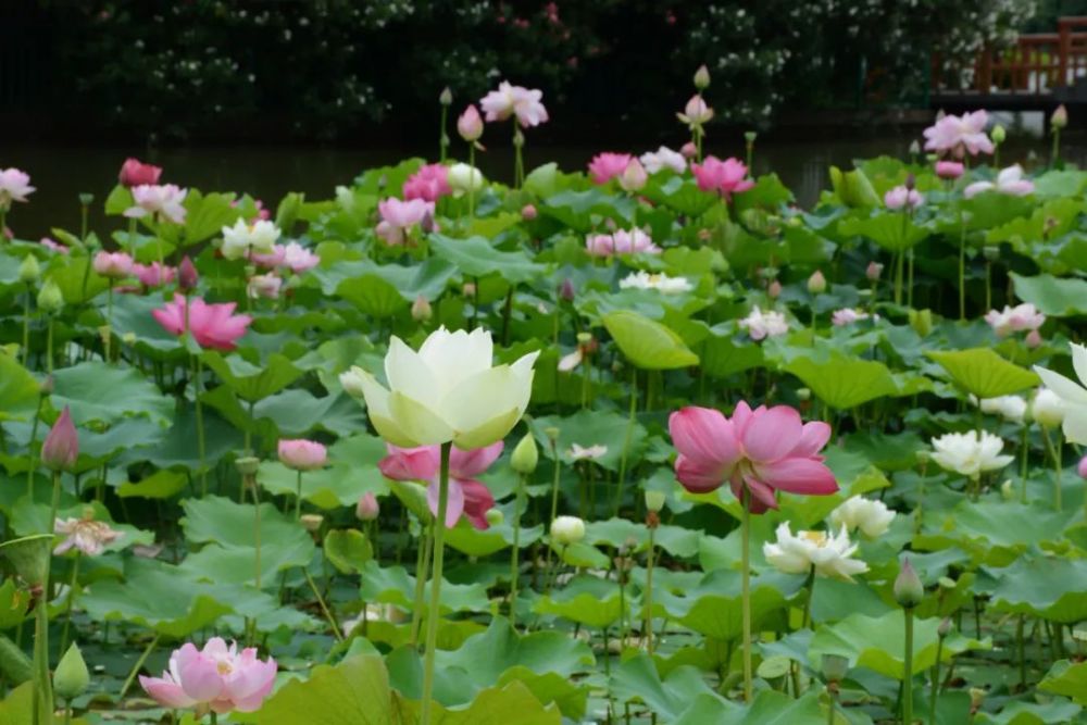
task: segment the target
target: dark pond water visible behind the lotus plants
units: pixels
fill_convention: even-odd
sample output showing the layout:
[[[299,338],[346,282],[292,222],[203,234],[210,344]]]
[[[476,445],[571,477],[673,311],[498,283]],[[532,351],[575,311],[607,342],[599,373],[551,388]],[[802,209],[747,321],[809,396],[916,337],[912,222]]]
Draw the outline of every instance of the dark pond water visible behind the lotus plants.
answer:
[[[1001,118],[1012,133],[1001,151],[1003,163],[1021,162],[1032,166],[1049,154],[1048,139],[1040,138],[1040,116],[1030,114]],[[735,136],[739,136],[736,134]],[[827,167],[848,166],[852,159],[890,154],[908,155],[910,142],[921,137],[920,128],[875,134],[846,126],[840,133],[822,132],[821,137],[794,140],[761,140],[757,143],[754,172],[776,172],[794,190],[801,205],[811,205],[820,191],[829,186]],[[1080,166],[1087,162],[1087,133],[1067,133],[1062,143],[1062,157]],[[463,145],[454,142],[454,150]],[[655,149],[647,143],[642,150]],[[678,143],[676,143],[678,146]],[[526,166],[533,168],[555,161],[566,171],[585,168],[589,159],[600,151],[592,147],[534,147],[528,135]],[[707,141],[708,153],[721,157],[744,157],[741,138],[733,142],[720,137]],[[1032,159],[1030,153],[1038,159]],[[147,150],[129,148],[88,148],[24,145],[5,151],[0,167],[17,166],[27,171],[37,191],[29,204],[18,204],[9,217],[16,236],[36,239],[60,226],[71,230],[79,227],[80,192],[91,192],[96,200],[91,211],[91,228],[120,228],[116,221],[107,223],[102,201],[116,179],[121,162],[129,155],[165,167],[164,182],[200,189],[249,192],[272,209],[288,191],[302,191],[308,199],[327,199],[339,184],[349,184],[359,172],[393,164],[410,155],[433,154],[429,148],[329,148],[299,146],[229,146],[200,148],[165,148]],[[477,155],[478,164],[491,178],[509,180],[513,162],[508,146],[495,141],[486,153]]]

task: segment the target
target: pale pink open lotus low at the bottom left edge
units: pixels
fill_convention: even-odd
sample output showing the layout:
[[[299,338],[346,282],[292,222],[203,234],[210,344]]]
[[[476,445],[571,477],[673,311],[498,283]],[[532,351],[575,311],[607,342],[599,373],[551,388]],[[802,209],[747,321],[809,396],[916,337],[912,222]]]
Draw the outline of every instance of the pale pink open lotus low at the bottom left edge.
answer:
[[[174,650],[162,677],[140,675],[139,684],[164,708],[254,712],[272,692],[277,668],[272,658],[258,660],[255,648],[239,654],[236,643],[212,637],[202,650],[191,642]]]

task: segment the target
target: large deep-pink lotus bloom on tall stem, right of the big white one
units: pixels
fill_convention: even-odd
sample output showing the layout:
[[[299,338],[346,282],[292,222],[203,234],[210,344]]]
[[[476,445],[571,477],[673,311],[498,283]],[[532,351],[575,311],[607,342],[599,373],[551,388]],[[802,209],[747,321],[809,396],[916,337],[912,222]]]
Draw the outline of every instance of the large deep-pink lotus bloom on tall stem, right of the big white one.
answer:
[[[669,417],[669,432],[679,451],[676,478],[687,490],[705,493],[729,483],[737,499],[745,492],[752,513],[776,509],[776,490],[825,496],[838,490],[819,451],[830,426],[803,423],[788,405],[755,410],[736,405],[733,417],[709,408],[688,407]]]

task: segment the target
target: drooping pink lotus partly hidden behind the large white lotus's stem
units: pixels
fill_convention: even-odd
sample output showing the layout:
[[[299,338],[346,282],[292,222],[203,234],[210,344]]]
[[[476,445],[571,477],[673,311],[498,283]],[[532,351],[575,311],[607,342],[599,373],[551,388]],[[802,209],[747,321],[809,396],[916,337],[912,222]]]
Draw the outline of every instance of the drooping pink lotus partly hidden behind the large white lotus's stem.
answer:
[[[487,512],[495,505],[495,497],[476,476],[490,467],[502,454],[502,441],[486,448],[462,451],[453,448],[449,455],[449,499],[446,504],[446,527],[452,528],[463,514],[479,530],[490,527]],[[425,480],[426,500],[430,513],[438,515],[438,467],[441,449],[438,446],[398,448],[389,443],[389,454],[377,464],[387,478],[393,480]]]

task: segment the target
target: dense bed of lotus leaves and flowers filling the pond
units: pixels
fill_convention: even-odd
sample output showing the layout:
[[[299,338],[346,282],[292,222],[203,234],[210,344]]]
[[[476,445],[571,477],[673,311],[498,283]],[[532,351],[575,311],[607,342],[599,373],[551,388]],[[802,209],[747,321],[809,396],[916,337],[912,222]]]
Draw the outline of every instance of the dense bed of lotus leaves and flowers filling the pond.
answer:
[[[0,172],[0,723],[1087,722],[1059,136],[802,209],[698,95],[587,172],[480,105],[510,186],[475,107],[327,199],[129,160],[42,240]]]

